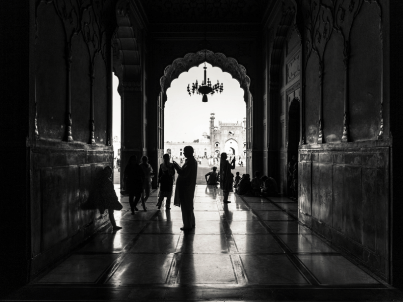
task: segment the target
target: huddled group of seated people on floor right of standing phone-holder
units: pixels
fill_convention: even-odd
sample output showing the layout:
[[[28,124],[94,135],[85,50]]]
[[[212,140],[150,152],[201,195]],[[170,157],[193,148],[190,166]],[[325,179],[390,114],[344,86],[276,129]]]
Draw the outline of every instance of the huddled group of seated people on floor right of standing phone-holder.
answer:
[[[239,172],[236,173],[234,180],[235,193],[239,195],[249,196],[279,196],[277,191],[277,182],[272,177],[263,175],[260,177],[260,172],[255,172],[255,177],[250,179],[249,174],[243,174],[239,176]]]

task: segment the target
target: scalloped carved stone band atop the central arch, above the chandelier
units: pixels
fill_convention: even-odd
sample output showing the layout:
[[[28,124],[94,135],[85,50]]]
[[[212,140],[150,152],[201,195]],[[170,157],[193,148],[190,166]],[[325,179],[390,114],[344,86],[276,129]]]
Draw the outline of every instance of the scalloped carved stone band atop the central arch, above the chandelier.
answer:
[[[200,65],[203,62],[212,64],[213,67],[219,67],[223,72],[231,74],[232,78],[239,82],[239,86],[244,90],[244,100],[247,101],[250,78],[246,74],[246,68],[234,58],[227,58],[225,54],[211,50],[197,51],[196,53],[188,53],[183,58],[175,59],[171,65],[168,65],[164,70],[164,75],[160,79],[162,91],[165,93],[171,87],[173,80],[178,79],[182,72],[187,72],[191,67]]]

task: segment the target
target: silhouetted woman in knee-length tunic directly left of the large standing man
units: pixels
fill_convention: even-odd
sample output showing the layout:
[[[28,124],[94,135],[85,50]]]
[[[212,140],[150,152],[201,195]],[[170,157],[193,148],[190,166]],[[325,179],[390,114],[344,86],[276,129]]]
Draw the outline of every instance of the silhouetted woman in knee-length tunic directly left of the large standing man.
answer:
[[[161,204],[164,198],[167,198],[165,203],[165,209],[171,209],[171,197],[173,182],[175,181],[175,168],[173,164],[169,162],[169,154],[164,154],[164,162],[160,165],[160,170],[158,171],[158,186],[160,186],[160,192],[158,193],[158,209],[161,209]]]

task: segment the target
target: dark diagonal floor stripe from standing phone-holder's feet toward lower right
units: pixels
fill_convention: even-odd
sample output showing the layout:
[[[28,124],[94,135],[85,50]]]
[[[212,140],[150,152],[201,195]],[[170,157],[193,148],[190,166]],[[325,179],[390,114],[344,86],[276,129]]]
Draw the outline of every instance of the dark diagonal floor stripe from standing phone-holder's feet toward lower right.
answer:
[[[250,205],[248,204],[248,202],[243,198],[242,195],[240,195],[241,199],[243,200],[243,202],[245,203],[246,207],[250,209],[250,211],[256,216],[258,217],[258,220],[260,222],[263,223],[264,228],[266,229],[266,231],[268,231],[274,238],[274,240],[276,241],[276,243],[280,246],[280,248],[287,252],[287,257],[290,259],[290,262],[294,265],[294,267],[297,269],[297,271],[302,275],[302,277],[304,279],[306,279],[310,284],[312,285],[318,285],[319,282],[317,281],[317,279],[313,276],[312,272],[302,263],[302,261],[292,255],[292,250],[281,240],[281,238],[279,238],[272,230],[272,228],[270,228],[270,226],[265,223],[264,220],[261,219],[261,217],[254,212],[254,210],[250,207]]]

